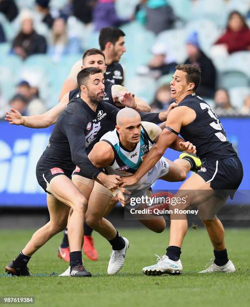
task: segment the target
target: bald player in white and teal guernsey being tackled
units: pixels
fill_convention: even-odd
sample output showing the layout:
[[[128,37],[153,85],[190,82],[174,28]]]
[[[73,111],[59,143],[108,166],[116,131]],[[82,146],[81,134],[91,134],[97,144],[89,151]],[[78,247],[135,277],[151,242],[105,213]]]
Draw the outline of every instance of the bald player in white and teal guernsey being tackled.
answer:
[[[109,174],[118,174],[119,176],[129,176],[132,169],[136,170],[144,156],[150,150],[153,142],[155,142],[161,133],[161,129],[154,123],[141,122],[140,115],[132,108],[125,108],[118,112],[116,117],[116,129],[107,132],[97,142],[88,155],[89,160],[97,168],[104,168]],[[185,142],[183,139],[176,136],[176,140],[171,146],[178,151],[186,151],[194,154],[196,149],[190,142]],[[144,154],[143,154],[144,152]],[[120,158],[119,158],[119,157]],[[131,158],[132,156],[132,158]],[[128,162],[122,166],[121,161]],[[194,163],[198,163],[197,159]],[[190,171],[190,163],[186,160],[177,159],[171,162],[162,158],[152,170],[146,174],[139,185],[133,187],[138,188],[138,195],[146,195],[151,184],[157,179],[166,181],[183,181],[186,179],[187,173]],[[74,175],[74,180],[77,180],[77,175]],[[82,180],[79,176],[79,181]],[[89,180],[91,181],[91,180]],[[87,185],[86,185],[87,186]],[[89,183],[90,188],[90,183]],[[106,189],[106,188],[104,188]],[[94,187],[95,190],[95,187]],[[93,190],[93,191],[94,191]],[[99,232],[106,239],[113,238],[116,229],[105,219],[105,208],[109,204],[112,194],[106,189],[106,193],[100,194],[100,198],[92,193],[89,198],[88,210],[86,212],[86,222],[95,231]],[[83,191],[81,190],[83,193]],[[85,195],[85,193],[83,193]],[[121,202],[124,204],[121,197]],[[139,220],[144,226],[150,230],[160,233],[165,227],[165,220],[162,218],[155,219],[150,215],[144,215],[142,220]],[[115,274],[123,266],[126,250],[113,250],[108,265],[108,273]],[[68,276],[67,269],[61,276]]]

